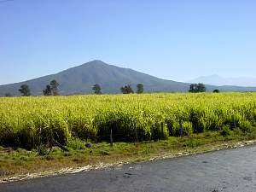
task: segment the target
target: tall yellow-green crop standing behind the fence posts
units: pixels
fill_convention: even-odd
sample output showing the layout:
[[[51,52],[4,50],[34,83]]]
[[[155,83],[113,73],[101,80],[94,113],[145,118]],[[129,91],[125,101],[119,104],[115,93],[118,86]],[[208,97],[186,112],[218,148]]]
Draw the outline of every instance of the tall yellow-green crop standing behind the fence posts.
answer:
[[[0,98],[0,145],[35,148],[55,139],[164,139],[222,131],[256,120],[256,93],[143,94]]]

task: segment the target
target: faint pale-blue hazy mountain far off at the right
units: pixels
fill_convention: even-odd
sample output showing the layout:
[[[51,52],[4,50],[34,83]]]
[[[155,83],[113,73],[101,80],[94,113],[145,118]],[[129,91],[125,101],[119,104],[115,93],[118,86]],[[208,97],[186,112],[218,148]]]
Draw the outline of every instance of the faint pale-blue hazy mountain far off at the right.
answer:
[[[196,79],[189,80],[191,83],[202,82],[204,84],[221,85],[236,85],[236,86],[256,86],[256,78],[240,77],[240,78],[223,78],[218,75],[202,76]]]

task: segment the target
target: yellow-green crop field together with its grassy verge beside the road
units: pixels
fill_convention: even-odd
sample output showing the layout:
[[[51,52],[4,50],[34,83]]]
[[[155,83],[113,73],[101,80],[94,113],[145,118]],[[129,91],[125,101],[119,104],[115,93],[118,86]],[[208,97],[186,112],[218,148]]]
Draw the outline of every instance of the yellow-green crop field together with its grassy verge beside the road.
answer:
[[[204,151],[255,139],[255,120],[255,93],[0,98],[0,177]],[[69,151],[38,155],[53,140]]]

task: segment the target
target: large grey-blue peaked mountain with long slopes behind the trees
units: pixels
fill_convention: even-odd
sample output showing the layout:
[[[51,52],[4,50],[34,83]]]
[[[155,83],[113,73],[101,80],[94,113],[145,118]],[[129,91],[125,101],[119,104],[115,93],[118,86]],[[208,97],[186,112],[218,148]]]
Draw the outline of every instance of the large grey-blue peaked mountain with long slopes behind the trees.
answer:
[[[42,90],[46,84],[49,84],[52,79],[59,82],[61,95],[92,93],[93,84],[101,84],[103,93],[119,93],[119,88],[125,84],[131,84],[135,89],[136,84],[139,83],[144,84],[146,92],[187,92],[189,90],[188,83],[159,79],[129,68],[116,67],[96,60],[38,79],[0,85],[0,96],[4,96],[6,93],[19,96],[18,90],[21,84],[28,84],[32,90],[32,95],[40,96],[43,94]],[[214,89],[221,91],[256,91],[256,87],[207,85],[208,91]]]

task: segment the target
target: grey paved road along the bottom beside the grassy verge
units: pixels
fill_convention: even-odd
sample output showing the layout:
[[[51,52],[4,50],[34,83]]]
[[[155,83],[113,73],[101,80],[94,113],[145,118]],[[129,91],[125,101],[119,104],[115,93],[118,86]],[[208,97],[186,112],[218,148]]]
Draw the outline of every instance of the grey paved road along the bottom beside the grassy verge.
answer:
[[[0,184],[1,192],[255,192],[256,146]]]

